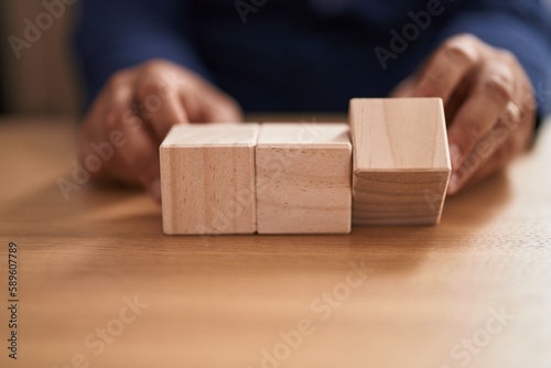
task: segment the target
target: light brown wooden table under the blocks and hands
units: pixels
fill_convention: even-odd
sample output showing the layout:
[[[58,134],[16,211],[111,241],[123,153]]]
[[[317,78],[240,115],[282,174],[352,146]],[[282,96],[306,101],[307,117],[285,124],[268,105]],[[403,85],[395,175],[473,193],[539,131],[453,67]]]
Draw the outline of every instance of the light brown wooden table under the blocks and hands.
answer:
[[[74,147],[71,121],[0,122],[1,367],[551,367],[549,125],[440,226],[349,236],[168,237],[141,192],[65,201]]]

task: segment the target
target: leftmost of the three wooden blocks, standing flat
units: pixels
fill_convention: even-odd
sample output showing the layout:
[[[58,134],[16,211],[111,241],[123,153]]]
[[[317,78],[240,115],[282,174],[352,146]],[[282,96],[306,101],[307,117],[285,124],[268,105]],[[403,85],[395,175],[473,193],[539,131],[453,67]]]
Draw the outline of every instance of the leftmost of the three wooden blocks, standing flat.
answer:
[[[165,234],[253,234],[259,126],[180,125],[161,144]]]

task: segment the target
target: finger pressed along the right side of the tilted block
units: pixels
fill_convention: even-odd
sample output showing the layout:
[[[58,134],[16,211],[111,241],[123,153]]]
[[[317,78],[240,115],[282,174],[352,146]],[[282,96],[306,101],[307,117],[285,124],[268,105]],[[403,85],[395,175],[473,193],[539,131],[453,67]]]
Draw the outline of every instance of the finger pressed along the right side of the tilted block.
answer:
[[[479,140],[497,123],[512,98],[514,75],[508,65],[491,63],[479,71],[477,84],[449,129],[452,169],[461,167]]]

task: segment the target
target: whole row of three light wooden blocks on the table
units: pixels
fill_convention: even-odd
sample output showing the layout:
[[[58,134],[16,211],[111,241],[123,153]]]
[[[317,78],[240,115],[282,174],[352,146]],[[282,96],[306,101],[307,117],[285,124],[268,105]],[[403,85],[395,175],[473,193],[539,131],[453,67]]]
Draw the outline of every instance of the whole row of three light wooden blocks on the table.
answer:
[[[437,224],[451,172],[437,98],[353,99],[349,125],[180,125],[160,155],[171,235]]]

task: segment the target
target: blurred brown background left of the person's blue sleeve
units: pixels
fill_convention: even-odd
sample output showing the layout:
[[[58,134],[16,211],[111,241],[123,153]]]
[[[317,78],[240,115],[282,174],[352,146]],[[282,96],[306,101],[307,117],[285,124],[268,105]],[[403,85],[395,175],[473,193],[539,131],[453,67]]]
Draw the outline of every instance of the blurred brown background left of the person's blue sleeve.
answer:
[[[77,115],[82,110],[83,89],[72,54],[72,29],[83,0],[47,0],[65,2],[64,13],[44,17],[44,0],[2,0],[0,2],[0,113]],[[93,0],[91,0],[93,1]],[[542,0],[551,9],[551,0]],[[42,15],[41,15],[42,14]],[[10,43],[25,40],[29,20],[51,25],[35,42],[25,44],[18,58]],[[48,20],[52,22],[48,22]],[[50,24],[51,23],[51,24]],[[33,34],[31,34],[33,35]],[[34,34],[35,35],[35,34]],[[551,46],[551,45],[550,45]],[[551,66],[550,66],[551,67]],[[551,104],[551,98],[548,99]]]

